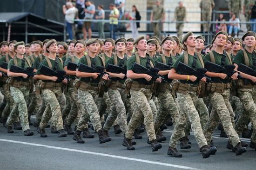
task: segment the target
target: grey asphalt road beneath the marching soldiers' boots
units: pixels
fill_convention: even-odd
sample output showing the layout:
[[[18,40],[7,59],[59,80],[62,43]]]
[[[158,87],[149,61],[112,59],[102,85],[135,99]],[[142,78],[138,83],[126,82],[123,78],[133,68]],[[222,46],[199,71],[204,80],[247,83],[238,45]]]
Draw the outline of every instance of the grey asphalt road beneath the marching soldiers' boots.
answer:
[[[21,130],[9,134],[0,125],[0,170],[256,170],[256,151],[247,147],[246,153],[236,156],[226,149],[228,139],[220,138],[218,130],[213,136],[216,155],[203,159],[193,135],[189,136],[191,149],[177,146],[182,158],[167,155],[173,126],[164,130],[167,141],[155,152],[146,143],[146,132],[136,139],[135,151],[128,151],[121,145],[122,135],[115,135],[113,128],[109,131],[112,141],[105,144],[99,144],[96,133],[94,139],[83,138],[85,144],[77,144],[73,135],[58,138],[48,128],[48,137],[40,138],[36,128],[30,128],[34,136],[27,137]],[[244,141],[249,143],[249,139]]]

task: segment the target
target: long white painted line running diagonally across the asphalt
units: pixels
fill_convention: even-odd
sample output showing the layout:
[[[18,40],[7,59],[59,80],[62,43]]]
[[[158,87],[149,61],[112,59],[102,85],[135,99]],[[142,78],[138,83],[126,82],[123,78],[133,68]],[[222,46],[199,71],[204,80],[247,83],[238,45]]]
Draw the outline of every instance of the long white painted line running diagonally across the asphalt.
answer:
[[[131,158],[131,157],[121,157],[121,156],[117,156],[117,155],[109,155],[109,154],[99,153],[99,152],[83,151],[83,150],[78,150],[78,149],[70,149],[70,148],[56,147],[56,146],[50,146],[50,145],[41,145],[41,144],[34,144],[34,143],[21,142],[21,141],[16,141],[16,140],[8,140],[8,139],[0,139],[0,141],[10,142],[10,143],[15,143],[15,144],[45,147],[45,148],[57,149],[57,150],[63,150],[63,151],[80,152],[80,153],[91,154],[91,155],[99,155],[99,156],[103,156],[103,157],[112,157],[112,158],[124,159],[124,160],[129,160],[129,161],[136,161],[136,162],[142,162],[142,163],[148,163],[148,164],[156,164],[156,165],[180,168],[183,170],[200,170],[200,169],[192,168],[192,167],[188,167],[188,166],[166,164],[166,163],[148,161],[148,160],[144,160],[144,159],[137,159],[137,158]]]

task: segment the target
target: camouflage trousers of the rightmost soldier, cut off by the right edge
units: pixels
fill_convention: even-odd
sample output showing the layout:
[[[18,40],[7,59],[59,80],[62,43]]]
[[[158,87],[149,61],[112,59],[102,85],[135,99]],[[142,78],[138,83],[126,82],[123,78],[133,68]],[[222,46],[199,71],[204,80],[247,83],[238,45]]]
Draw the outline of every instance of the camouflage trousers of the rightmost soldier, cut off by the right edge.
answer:
[[[236,122],[235,130],[240,135],[250,119],[253,126],[251,141],[256,142],[256,86],[238,89],[237,92],[243,103],[243,111]]]

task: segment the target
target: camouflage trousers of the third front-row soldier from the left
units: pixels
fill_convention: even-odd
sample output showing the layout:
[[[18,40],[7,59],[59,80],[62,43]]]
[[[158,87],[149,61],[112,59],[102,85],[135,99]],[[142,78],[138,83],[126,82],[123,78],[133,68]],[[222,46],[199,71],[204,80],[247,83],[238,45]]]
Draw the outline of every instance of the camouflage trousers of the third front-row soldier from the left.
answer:
[[[82,91],[78,89],[78,98],[81,102],[82,113],[77,124],[77,129],[83,131],[88,121],[91,119],[94,130],[98,132],[102,129],[101,117],[97,108],[97,100],[99,93],[95,90]]]

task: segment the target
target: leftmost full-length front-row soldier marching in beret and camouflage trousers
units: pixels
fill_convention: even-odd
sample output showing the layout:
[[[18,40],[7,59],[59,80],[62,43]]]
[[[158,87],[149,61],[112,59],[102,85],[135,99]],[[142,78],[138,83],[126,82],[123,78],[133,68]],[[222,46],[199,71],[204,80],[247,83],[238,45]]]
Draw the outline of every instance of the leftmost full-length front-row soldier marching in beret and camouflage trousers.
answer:
[[[24,57],[24,42],[15,43],[13,49],[17,55],[13,57],[13,59],[11,59],[8,63],[7,75],[8,77],[12,78],[8,78],[7,83],[10,86],[10,93],[13,96],[15,106],[13,107],[6,122],[7,132],[13,133],[13,123],[15,122],[16,118],[19,117],[24,135],[32,136],[34,132],[31,132],[29,128],[26,100],[29,95],[31,84],[33,84],[33,79],[32,77],[28,77],[27,74],[10,71],[12,65],[26,69],[27,67],[31,67],[31,62],[26,57]]]

